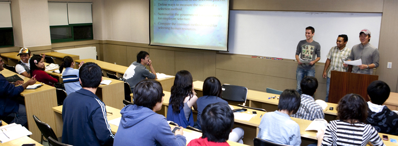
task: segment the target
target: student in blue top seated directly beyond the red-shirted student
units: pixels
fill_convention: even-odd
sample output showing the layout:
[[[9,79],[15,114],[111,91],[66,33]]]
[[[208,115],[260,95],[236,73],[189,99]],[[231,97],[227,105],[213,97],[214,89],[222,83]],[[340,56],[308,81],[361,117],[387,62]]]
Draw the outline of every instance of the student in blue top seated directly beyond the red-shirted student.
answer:
[[[198,98],[196,101],[196,104],[198,106],[198,116],[197,116],[197,127],[198,129],[202,129],[201,126],[201,114],[203,113],[203,109],[213,103],[226,103],[228,104],[227,101],[224,99],[221,99],[222,93],[222,88],[221,88],[221,83],[219,80],[215,77],[208,77],[206,80],[204,80],[203,83],[203,97]],[[228,140],[243,143],[243,135],[244,131],[242,128],[235,128],[232,130],[230,133],[230,137]]]

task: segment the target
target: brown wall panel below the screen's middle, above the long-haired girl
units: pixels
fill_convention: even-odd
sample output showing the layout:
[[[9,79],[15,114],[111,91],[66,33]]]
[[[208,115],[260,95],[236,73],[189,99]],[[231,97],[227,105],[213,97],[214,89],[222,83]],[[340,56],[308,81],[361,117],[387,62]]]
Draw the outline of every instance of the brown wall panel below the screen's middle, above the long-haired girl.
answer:
[[[188,70],[194,80],[204,81],[204,65],[203,53],[175,51],[175,72]]]

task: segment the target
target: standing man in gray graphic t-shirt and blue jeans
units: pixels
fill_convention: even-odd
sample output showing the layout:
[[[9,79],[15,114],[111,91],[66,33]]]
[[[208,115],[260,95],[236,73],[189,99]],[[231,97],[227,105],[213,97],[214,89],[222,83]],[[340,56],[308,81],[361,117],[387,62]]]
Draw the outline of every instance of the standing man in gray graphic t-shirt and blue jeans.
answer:
[[[315,63],[321,59],[321,45],[313,40],[315,29],[311,26],[305,28],[305,40],[298,42],[296,50],[297,60],[297,92],[301,95],[300,82],[305,76],[315,77]],[[316,55],[316,56],[315,56]]]

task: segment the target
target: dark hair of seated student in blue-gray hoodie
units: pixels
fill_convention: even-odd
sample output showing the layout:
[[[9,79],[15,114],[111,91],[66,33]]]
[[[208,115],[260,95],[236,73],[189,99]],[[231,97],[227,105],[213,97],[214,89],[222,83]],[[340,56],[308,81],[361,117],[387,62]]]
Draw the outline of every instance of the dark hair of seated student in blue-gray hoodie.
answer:
[[[159,82],[145,79],[136,85],[132,94],[134,104],[153,110],[156,103],[162,102],[163,88]]]

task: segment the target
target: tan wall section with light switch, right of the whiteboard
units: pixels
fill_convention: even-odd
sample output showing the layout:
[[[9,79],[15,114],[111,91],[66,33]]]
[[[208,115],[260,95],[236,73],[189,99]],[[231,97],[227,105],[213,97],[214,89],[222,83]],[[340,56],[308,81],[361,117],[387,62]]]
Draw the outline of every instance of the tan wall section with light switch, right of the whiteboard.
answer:
[[[398,32],[398,1],[385,0],[383,8],[383,17],[381,19],[379,53],[380,61],[376,75],[379,80],[388,84],[391,92],[397,92],[398,80],[398,41],[396,34]],[[372,43],[372,40],[370,41]],[[392,68],[387,68],[387,62],[392,62]]]

